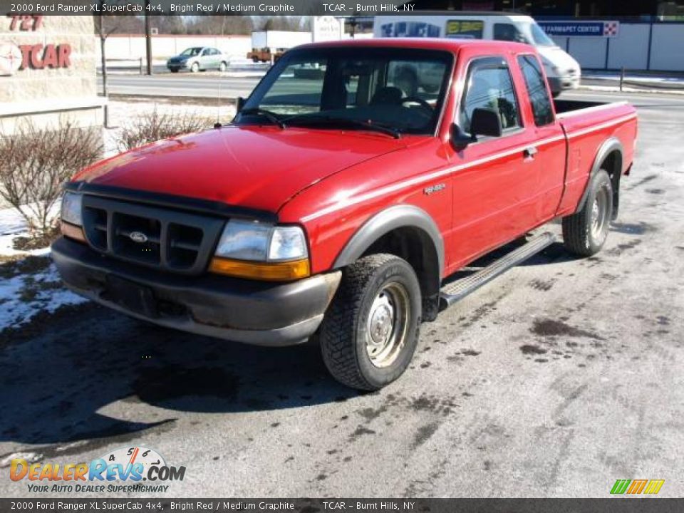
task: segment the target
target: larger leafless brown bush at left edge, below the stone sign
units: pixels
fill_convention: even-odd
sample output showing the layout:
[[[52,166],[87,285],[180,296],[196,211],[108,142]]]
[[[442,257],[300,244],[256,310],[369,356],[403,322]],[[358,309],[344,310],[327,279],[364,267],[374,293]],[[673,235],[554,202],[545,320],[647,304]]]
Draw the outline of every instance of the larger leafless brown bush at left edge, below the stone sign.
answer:
[[[26,220],[31,237],[54,232],[61,185],[102,155],[102,134],[71,120],[38,128],[19,123],[13,135],[0,133],[0,196]]]

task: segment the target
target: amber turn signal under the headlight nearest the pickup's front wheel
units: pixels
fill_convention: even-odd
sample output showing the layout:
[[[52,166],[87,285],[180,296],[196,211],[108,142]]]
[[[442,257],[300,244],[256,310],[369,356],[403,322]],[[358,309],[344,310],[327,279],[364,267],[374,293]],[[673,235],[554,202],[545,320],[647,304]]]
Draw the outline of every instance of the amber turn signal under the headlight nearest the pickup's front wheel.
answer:
[[[306,278],[311,273],[309,259],[286,262],[255,262],[214,257],[209,271],[237,278],[266,281],[293,281]]]

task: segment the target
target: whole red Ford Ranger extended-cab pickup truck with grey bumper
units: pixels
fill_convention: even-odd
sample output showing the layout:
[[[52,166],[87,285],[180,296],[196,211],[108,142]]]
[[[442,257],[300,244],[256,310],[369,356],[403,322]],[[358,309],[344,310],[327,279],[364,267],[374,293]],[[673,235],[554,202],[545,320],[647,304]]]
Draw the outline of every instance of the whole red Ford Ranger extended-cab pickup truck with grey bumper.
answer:
[[[429,84],[403,90],[406,66]],[[374,390],[408,367],[420,323],[554,236],[444,285],[469,262],[556,218],[570,252],[598,252],[636,131],[626,103],[554,103],[531,46],[300,46],[230,125],[73,177],[53,258],[74,291],[162,326],[314,338],[336,379]]]

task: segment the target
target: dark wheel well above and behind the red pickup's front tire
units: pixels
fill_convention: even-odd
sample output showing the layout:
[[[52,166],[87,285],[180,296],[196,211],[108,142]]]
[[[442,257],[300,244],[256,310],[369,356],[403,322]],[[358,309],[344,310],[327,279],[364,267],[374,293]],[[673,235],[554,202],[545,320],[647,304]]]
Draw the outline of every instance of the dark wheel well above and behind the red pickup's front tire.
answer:
[[[430,235],[418,227],[400,227],[371,244],[363,257],[389,253],[408,261],[413,267],[423,296],[423,321],[434,321],[439,311],[440,261]]]

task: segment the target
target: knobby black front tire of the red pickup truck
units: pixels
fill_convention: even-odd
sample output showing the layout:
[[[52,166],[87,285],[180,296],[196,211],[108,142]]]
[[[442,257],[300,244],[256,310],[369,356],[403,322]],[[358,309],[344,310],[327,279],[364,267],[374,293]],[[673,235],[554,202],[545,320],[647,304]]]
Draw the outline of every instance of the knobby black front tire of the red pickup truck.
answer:
[[[391,301],[393,287],[405,291],[405,300]],[[387,365],[382,365],[384,361],[374,363],[368,348],[368,341],[372,339],[368,326],[373,326],[369,319],[371,307],[383,301],[384,294],[388,294],[384,301],[395,305],[395,314],[390,317],[393,321],[390,321],[389,337],[388,332],[383,336],[400,341],[395,342],[395,349],[388,353]],[[408,311],[403,315],[403,321],[397,321],[396,312],[400,308],[396,304],[402,302],[408,305]],[[323,361],[333,378],[358,390],[378,390],[402,375],[418,345],[421,302],[418,278],[408,262],[399,257],[374,254],[344,269],[340,287],[320,331]],[[377,314],[382,308],[375,308],[374,312]],[[400,338],[395,338],[399,333]],[[379,353],[381,355],[382,351]]]

